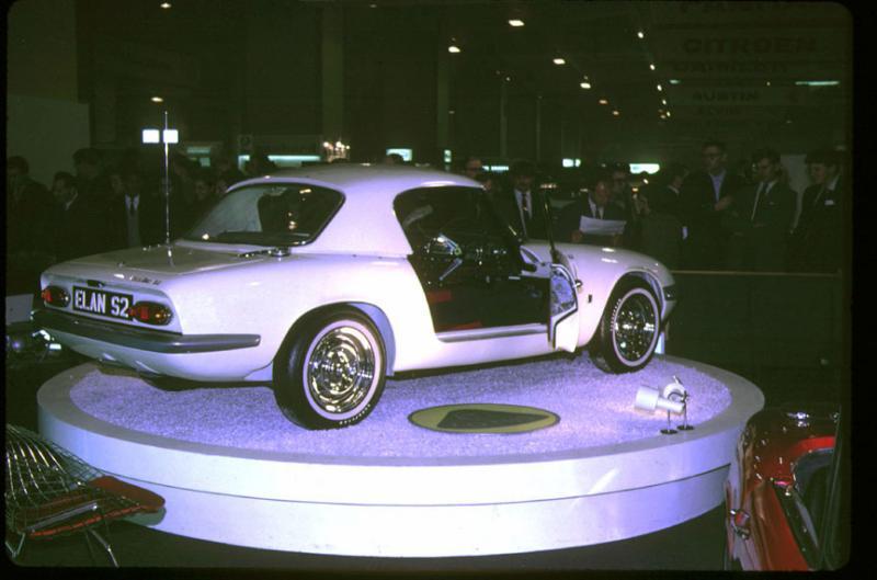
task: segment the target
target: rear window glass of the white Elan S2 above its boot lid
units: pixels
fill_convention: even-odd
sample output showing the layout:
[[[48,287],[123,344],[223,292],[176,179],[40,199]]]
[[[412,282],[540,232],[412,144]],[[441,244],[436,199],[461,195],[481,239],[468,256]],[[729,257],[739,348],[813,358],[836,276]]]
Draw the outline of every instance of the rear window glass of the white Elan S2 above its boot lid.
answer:
[[[248,185],[224,197],[183,238],[300,246],[322,231],[342,202],[337,191],[303,183]]]

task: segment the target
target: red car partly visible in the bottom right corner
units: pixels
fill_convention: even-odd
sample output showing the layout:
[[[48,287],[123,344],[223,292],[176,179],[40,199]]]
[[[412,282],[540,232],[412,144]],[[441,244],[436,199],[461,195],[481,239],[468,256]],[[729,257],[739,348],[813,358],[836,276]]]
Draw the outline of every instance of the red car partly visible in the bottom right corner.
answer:
[[[846,562],[842,431],[839,406],[765,409],[749,420],[725,486],[726,569],[820,570]]]

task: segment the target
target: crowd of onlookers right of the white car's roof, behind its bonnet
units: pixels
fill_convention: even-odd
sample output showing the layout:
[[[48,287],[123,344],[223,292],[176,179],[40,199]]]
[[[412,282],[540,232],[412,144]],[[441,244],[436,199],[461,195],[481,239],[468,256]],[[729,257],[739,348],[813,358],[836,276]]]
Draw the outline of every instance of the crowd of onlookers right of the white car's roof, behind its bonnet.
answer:
[[[741,171],[728,167],[724,143],[707,141],[701,153],[702,168],[665,163],[648,183],[636,183],[622,163],[580,171],[572,183],[560,185],[539,183],[528,161],[513,163],[508,174],[493,173],[472,156],[459,172],[482,183],[524,237],[548,237],[537,205],[544,192],[555,206],[550,234],[556,241],[640,251],[671,269],[842,269],[846,180],[840,151],[825,148],[806,157],[811,185],[800,196],[775,150],[753,151],[751,166]]]

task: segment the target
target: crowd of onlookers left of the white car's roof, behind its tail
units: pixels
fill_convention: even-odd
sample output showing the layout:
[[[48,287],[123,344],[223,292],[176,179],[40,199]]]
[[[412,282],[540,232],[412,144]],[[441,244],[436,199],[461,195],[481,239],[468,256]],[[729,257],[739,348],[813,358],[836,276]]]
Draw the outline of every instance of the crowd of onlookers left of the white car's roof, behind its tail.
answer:
[[[7,294],[33,292],[39,273],[72,258],[179,237],[227,189],[248,177],[226,157],[210,167],[184,155],[169,162],[170,219],[162,167],[149,171],[136,150],[121,159],[83,148],[72,155],[73,172],[57,171],[48,186],[30,175],[20,156],[7,159]],[[251,174],[270,172],[254,158]]]

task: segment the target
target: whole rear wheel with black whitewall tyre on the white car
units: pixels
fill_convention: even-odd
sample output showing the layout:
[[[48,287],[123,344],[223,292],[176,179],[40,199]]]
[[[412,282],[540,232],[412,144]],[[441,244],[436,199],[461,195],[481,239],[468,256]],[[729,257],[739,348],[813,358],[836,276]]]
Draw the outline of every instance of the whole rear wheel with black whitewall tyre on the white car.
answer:
[[[301,427],[349,427],[372,412],[385,374],[380,332],[361,311],[337,309],[291,331],[274,362],[274,397]]]

